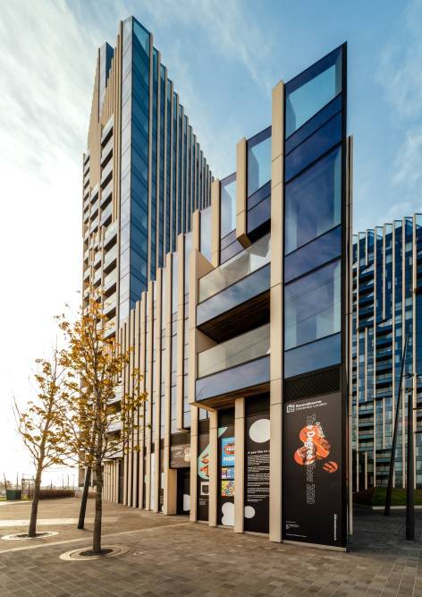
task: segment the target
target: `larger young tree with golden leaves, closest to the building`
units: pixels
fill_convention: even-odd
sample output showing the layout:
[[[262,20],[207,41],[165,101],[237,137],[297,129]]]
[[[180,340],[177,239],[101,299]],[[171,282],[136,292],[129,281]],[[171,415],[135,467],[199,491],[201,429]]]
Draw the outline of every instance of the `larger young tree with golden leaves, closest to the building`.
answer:
[[[80,310],[80,317],[70,323],[64,316],[59,326],[67,338],[62,353],[69,389],[67,426],[71,432],[70,448],[80,462],[92,468],[96,476],[97,492],[92,552],[100,554],[103,465],[106,460],[127,451],[136,442],[140,426],[139,407],[146,399],[141,391],[142,376],[137,369],[130,375],[129,392],[121,391],[122,375],[129,375],[131,350],[125,350],[114,337],[109,337],[110,322],[103,314],[101,295],[92,290],[89,303]],[[119,422],[115,432],[112,423]]]

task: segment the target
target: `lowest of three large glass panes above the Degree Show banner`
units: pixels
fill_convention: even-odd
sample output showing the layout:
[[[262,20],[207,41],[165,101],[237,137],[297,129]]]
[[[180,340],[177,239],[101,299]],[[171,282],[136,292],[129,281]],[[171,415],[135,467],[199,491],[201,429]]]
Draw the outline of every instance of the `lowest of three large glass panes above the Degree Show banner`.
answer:
[[[340,260],[284,287],[284,349],[340,332]]]

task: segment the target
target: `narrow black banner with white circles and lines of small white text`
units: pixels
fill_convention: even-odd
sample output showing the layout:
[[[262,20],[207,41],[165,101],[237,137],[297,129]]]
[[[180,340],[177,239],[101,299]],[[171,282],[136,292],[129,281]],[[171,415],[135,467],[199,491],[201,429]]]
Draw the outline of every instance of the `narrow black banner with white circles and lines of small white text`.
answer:
[[[269,532],[269,414],[247,416],[245,433],[245,531]]]

